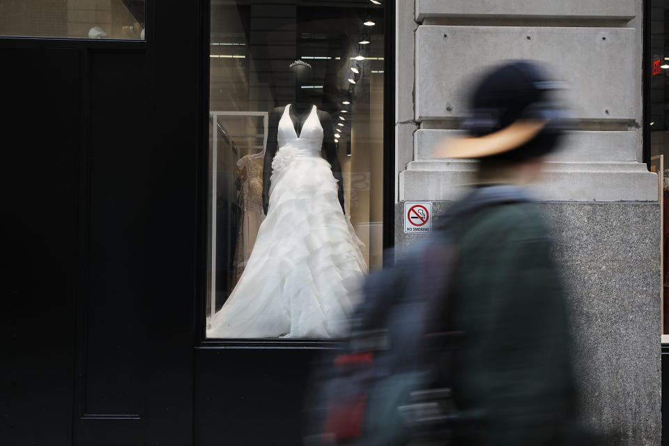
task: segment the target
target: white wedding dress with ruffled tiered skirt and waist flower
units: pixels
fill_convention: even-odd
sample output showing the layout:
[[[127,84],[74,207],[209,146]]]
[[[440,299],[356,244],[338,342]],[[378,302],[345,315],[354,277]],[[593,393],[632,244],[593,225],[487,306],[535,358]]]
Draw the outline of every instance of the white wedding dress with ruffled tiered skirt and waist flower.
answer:
[[[208,337],[327,338],[344,334],[365,266],[321,157],[316,106],[298,137],[286,105],[272,160],[270,204],[247,266]]]

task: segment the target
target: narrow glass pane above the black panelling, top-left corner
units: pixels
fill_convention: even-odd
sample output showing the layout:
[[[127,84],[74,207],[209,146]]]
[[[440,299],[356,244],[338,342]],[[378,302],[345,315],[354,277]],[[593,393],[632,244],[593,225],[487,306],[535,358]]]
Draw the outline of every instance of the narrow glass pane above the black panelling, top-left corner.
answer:
[[[0,0],[0,36],[144,40],[146,0]]]

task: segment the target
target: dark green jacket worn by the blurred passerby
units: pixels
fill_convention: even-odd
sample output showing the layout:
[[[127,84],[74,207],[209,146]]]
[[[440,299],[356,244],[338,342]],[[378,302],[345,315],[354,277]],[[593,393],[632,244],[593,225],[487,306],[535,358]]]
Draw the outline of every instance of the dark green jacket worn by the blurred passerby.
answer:
[[[458,222],[454,395],[467,445],[590,444],[576,424],[569,315],[551,240],[533,203]]]

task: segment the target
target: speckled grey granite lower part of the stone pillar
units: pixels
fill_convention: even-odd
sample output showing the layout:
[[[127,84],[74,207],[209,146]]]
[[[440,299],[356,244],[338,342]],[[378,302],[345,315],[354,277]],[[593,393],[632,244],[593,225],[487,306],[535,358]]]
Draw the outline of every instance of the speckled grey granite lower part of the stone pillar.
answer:
[[[436,220],[449,201],[433,201]],[[422,234],[403,233],[397,251]],[[658,445],[661,436],[658,203],[544,201],[574,323],[583,419],[606,445]],[[541,296],[537,296],[541,305]]]

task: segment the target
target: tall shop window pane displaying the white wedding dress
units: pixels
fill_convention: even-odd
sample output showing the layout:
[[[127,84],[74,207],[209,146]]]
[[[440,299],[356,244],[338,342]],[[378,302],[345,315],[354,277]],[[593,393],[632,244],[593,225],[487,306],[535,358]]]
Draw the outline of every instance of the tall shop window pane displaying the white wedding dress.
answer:
[[[384,7],[210,4],[207,336],[339,337],[382,259]]]

